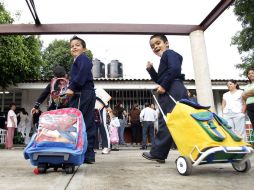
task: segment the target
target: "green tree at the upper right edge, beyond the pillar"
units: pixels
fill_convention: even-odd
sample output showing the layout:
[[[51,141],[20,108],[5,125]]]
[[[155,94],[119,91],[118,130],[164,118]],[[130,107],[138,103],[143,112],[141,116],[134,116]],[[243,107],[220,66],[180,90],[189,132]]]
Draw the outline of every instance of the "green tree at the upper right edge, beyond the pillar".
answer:
[[[254,68],[254,1],[236,0],[234,13],[243,28],[232,38],[232,44],[237,45],[238,51],[242,55],[242,63],[236,67],[246,74],[249,68]]]

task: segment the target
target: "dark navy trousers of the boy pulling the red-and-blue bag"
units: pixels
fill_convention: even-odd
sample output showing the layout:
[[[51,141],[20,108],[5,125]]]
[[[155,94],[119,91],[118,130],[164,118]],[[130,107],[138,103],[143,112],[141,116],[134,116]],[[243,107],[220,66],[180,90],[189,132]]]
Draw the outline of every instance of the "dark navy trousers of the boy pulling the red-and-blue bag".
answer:
[[[84,118],[87,133],[87,151],[85,159],[95,159],[94,143],[96,137],[96,127],[94,121],[94,105],[95,105],[95,92],[94,90],[82,90],[81,94],[75,94],[70,100],[70,107],[78,108]],[[79,101],[80,100],[80,101]]]

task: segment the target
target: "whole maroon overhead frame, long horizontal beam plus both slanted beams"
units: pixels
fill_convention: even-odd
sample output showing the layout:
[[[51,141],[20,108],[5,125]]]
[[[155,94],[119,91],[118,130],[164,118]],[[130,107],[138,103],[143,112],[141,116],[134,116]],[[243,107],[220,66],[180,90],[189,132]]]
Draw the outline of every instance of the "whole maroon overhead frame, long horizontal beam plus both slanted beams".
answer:
[[[28,0],[26,0],[28,4]],[[33,0],[29,7],[34,24],[1,24],[0,34],[39,35],[39,34],[153,34],[189,35],[195,30],[206,30],[234,0],[221,0],[199,25],[177,24],[41,24]],[[29,6],[29,5],[28,5]]]

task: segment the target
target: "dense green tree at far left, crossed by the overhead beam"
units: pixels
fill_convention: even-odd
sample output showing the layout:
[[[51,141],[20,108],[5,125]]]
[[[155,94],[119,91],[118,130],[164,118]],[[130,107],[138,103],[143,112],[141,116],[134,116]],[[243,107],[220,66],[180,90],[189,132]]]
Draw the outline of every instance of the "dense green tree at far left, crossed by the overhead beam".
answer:
[[[0,3],[0,23],[12,24],[13,19]],[[41,42],[35,36],[0,36],[0,87],[8,88],[40,76]]]

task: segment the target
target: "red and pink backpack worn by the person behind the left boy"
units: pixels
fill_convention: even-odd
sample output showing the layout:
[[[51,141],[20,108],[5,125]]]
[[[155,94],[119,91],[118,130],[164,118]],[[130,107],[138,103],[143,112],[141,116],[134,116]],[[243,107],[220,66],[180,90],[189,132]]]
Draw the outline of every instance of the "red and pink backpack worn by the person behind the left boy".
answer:
[[[66,95],[69,80],[54,77],[50,83],[50,105],[55,104],[56,109],[66,107],[69,98]]]

